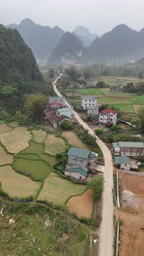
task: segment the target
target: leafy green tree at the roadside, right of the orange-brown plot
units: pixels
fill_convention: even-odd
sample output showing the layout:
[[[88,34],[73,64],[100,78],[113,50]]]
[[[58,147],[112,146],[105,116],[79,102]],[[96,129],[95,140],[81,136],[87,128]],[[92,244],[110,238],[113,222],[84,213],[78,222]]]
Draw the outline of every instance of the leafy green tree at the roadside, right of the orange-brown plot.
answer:
[[[97,175],[92,181],[88,182],[87,188],[93,190],[94,199],[100,197],[104,190],[104,176],[102,174]]]

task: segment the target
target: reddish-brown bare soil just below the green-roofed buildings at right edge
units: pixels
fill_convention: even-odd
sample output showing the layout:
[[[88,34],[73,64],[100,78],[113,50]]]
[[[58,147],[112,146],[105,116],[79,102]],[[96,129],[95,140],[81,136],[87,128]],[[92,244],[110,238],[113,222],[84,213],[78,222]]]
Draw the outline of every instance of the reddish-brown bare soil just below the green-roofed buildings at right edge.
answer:
[[[144,177],[119,173],[119,178],[122,184],[122,190],[130,190],[134,194],[144,195]]]

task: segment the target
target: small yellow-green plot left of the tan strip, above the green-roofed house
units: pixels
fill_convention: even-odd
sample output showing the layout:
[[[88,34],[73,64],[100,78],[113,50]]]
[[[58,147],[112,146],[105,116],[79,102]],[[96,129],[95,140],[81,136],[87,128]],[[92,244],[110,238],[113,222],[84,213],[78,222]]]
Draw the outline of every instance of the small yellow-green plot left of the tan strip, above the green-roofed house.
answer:
[[[45,140],[45,153],[56,155],[65,151],[65,142],[62,138],[49,134]]]

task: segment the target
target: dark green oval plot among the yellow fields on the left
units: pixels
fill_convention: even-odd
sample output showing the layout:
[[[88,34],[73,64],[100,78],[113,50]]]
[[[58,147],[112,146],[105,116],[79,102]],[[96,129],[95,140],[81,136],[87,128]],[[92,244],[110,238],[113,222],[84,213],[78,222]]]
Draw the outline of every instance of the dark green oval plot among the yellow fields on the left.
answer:
[[[16,159],[13,168],[15,170],[29,172],[33,178],[40,180],[43,180],[52,172],[52,168],[43,161],[22,158]]]

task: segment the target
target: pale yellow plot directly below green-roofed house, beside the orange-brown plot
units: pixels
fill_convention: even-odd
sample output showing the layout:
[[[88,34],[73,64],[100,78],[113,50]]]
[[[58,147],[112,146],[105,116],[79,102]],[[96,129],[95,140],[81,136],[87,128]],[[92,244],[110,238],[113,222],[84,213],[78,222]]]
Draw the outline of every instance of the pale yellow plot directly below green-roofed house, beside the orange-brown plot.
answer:
[[[63,206],[70,196],[80,195],[85,189],[85,185],[71,183],[67,179],[59,177],[58,174],[51,173],[45,179],[38,200],[53,203],[56,206]]]

